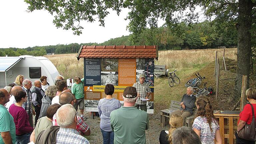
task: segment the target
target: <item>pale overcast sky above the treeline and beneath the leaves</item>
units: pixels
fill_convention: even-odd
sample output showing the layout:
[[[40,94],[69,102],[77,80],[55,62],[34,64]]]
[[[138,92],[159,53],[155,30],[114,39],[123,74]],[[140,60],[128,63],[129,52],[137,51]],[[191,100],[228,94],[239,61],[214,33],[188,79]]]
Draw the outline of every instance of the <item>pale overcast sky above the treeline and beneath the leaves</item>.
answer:
[[[82,22],[83,34],[73,35],[72,30],[57,29],[52,23],[54,17],[44,10],[28,13],[28,5],[23,0],[0,1],[0,48],[26,48],[70,43],[102,43],[110,38],[129,35],[125,21],[128,10],[124,9],[120,16],[111,12],[105,18],[105,27],[99,22]],[[96,16],[95,16],[96,17]],[[113,24],[113,22],[115,24]],[[161,26],[164,22],[161,21]]]

